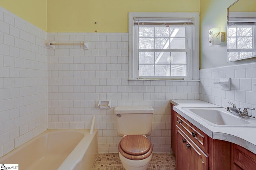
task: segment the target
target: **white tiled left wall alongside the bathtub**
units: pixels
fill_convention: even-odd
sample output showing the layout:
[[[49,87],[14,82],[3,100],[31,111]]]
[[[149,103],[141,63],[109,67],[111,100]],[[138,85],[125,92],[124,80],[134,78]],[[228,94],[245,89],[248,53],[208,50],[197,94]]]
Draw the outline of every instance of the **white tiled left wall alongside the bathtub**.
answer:
[[[46,39],[0,7],[0,156],[47,129]]]

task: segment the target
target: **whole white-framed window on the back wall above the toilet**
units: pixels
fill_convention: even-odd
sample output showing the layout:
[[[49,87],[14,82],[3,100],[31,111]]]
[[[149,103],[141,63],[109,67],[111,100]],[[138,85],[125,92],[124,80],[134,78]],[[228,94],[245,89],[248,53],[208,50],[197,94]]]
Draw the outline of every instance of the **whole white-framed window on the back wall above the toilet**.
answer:
[[[129,49],[129,79],[198,79],[199,14],[129,13]]]

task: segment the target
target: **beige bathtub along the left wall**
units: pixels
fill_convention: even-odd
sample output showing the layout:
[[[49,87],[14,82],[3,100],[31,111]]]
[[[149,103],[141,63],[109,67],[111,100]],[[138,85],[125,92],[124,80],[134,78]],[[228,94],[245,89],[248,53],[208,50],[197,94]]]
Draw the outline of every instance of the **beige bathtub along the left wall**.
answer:
[[[98,154],[97,131],[46,130],[0,158],[20,170],[91,170]]]

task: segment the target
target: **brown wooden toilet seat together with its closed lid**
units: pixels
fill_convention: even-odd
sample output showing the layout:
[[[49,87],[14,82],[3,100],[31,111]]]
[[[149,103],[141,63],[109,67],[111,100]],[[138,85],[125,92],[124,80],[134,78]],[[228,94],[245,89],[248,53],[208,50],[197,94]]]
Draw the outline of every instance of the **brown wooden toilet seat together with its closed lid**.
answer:
[[[142,135],[127,135],[121,139],[118,150],[125,158],[142,160],[150,156],[153,147],[148,138]]]

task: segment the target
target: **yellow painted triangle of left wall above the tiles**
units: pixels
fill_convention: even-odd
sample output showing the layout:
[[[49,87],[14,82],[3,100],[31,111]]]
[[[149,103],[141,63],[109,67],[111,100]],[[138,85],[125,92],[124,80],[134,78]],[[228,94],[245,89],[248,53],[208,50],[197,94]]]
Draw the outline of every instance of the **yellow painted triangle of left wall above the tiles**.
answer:
[[[47,0],[0,0],[0,6],[40,29],[47,30]]]

